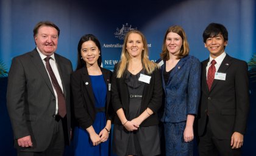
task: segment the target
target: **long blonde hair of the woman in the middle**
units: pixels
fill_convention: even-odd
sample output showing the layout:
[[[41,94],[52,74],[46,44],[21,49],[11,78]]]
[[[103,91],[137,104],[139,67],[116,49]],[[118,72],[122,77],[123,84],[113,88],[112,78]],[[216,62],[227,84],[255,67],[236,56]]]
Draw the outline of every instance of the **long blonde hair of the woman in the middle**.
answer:
[[[149,60],[148,44],[145,36],[138,30],[130,30],[129,32],[126,33],[126,37],[124,38],[124,44],[123,44],[123,49],[121,53],[121,61],[119,62],[119,66],[117,67],[117,72],[116,72],[117,78],[121,78],[123,76],[123,73],[126,70],[126,67],[128,66],[129,61],[131,59],[126,49],[127,39],[131,33],[137,33],[142,38],[144,50],[142,50],[141,52],[141,63],[142,63],[143,69],[146,70],[149,74],[151,74],[152,72],[154,72],[155,69],[157,69],[157,64]]]

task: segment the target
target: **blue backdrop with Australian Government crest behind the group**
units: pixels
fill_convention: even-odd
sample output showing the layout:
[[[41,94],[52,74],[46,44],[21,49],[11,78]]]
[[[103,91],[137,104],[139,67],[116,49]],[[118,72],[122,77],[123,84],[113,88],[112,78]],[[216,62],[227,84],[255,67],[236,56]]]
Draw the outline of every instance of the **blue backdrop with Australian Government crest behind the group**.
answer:
[[[188,36],[190,54],[201,61],[208,58],[202,32],[210,22],[224,24],[229,31],[226,52],[249,61],[255,53],[256,2],[254,0],[169,0],[169,1],[82,1],[82,0],[1,0],[0,60],[9,70],[12,58],[35,48],[33,32],[38,21],[49,20],[60,28],[57,53],[76,67],[77,43],[86,33],[98,36],[103,66],[112,70],[120,58],[123,34],[138,29],[148,40],[149,58],[157,60],[163,36],[171,25],[181,25]],[[251,112],[243,155],[256,155],[255,83],[251,84]],[[15,154],[12,129],[5,107],[6,78],[1,79],[0,130],[4,143],[0,155]]]

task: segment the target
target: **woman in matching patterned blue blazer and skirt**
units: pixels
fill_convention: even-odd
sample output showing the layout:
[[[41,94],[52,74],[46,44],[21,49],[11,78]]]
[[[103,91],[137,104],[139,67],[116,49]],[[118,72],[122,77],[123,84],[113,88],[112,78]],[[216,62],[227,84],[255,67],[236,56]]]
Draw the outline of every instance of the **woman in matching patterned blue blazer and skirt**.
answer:
[[[161,117],[166,155],[193,155],[193,123],[200,98],[201,64],[188,55],[182,27],[169,27],[163,40],[162,82],[165,93]]]

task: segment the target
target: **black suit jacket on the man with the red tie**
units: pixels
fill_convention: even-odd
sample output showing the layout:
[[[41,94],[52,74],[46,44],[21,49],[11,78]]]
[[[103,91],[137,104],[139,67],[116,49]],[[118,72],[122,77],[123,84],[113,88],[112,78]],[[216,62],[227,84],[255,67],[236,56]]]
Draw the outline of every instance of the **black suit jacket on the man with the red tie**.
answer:
[[[198,134],[204,134],[208,124],[218,139],[230,140],[233,132],[244,134],[249,111],[249,78],[247,63],[226,55],[218,72],[226,73],[226,80],[214,80],[209,91],[206,67],[202,62],[202,89],[199,106]]]

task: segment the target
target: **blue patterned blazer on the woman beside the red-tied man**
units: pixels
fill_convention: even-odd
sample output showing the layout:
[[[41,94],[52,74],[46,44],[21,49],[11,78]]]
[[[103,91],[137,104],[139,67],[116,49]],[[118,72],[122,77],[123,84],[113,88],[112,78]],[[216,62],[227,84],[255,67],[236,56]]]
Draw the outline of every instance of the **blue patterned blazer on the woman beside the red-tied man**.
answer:
[[[201,63],[194,56],[181,58],[169,75],[165,84],[161,67],[164,89],[163,114],[161,121],[179,123],[187,120],[188,114],[197,115],[201,92]]]

